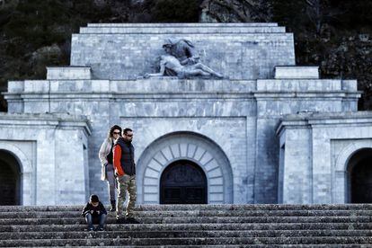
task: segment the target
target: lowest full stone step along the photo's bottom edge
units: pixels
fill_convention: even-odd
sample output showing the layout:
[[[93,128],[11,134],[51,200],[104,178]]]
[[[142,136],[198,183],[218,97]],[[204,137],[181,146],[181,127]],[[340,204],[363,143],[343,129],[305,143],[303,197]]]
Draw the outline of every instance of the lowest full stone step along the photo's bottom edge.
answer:
[[[1,240],[9,246],[93,246],[93,245],[200,245],[200,244],[372,244],[372,237],[228,237],[228,238],[97,238]]]

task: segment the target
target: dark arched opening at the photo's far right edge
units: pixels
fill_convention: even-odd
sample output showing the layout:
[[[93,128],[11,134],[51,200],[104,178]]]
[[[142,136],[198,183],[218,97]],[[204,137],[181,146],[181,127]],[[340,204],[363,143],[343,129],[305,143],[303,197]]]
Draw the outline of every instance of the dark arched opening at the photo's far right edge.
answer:
[[[348,164],[350,203],[372,203],[372,149],[360,149]]]

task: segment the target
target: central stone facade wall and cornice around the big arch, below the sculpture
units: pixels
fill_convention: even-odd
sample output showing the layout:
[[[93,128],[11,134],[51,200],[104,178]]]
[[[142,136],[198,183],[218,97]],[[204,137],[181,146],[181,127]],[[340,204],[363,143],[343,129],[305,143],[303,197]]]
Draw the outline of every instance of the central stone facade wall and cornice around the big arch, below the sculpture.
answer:
[[[26,112],[88,117],[93,129],[88,139],[90,193],[107,195],[106,183],[100,181],[98,151],[108,128],[120,124],[135,130],[137,159],[157,138],[173,132],[197,133],[213,140],[232,168],[235,203],[278,201],[275,128],[282,115],[345,111],[348,99],[347,109],[356,111],[359,97],[355,81],[320,79],[56,79],[10,82],[10,90],[13,93],[6,97],[21,102],[14,105],[22,104]]]

